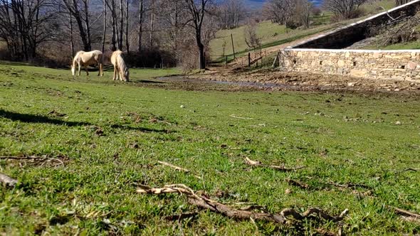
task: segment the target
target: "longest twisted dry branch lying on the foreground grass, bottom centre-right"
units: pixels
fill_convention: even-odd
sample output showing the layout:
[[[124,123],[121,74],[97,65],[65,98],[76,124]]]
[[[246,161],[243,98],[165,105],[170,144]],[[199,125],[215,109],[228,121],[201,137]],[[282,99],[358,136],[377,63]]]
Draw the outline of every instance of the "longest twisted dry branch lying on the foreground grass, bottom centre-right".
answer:
[[[215,213],[220,213],[221,215],[225,215],[229,218],[233,218],[236,220],[255,220],[255,221],[268,221],[268,222],[275,222],[278,224],[285,224],[288,222],[288,217],[293,216],[295,220],[304,220],[306,218],[310,218],[311,216],[316,216],[318,219],[323,220],[332,220],[332,221],[340,221],[342,220],[345,215],[347,214],[348,210],[346,209],[338,216],[328,215],[327,213],[323,212],[317,208],[310,208],[305,213],[300,214],[293,209],[285,209],[281,211],[280,214],[271,214],[271,213],[257,213],[249,210],[236,210],[231,208],[228,205],[224,205],[219,203],[215,200],[211,200],[206,198],[205,196],[199,196],[191,190],[191,188],[184,186],[184,185],[170,185],[164,186],[163,188],[150,188],[149,186],[140,186],[137,189],[137,193],[148,193],[148,194],[165,194],[165,193],[179,193],[184,194],[187,196],[188,203],[191,205],[196,205],[199,208],[204,208],[211,210]]]

